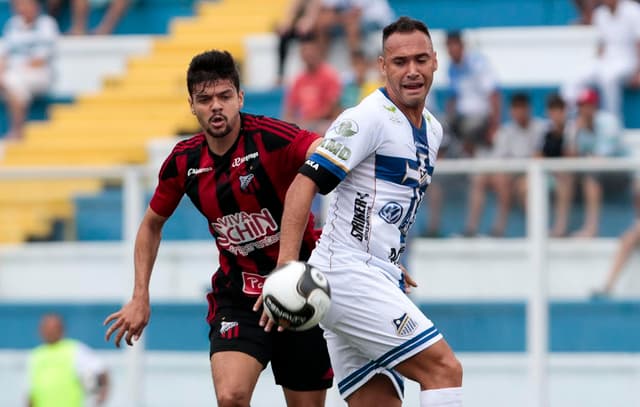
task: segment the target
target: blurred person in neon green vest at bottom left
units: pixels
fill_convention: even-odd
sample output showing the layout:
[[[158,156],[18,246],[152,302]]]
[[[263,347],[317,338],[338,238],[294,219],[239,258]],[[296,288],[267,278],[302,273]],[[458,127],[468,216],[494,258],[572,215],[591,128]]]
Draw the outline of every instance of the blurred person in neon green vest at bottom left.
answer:
[[[58,314],[40,321],[44,342],[29,356],[28,407],[83,407],[85,397],[95,393],[102,405],[109,390],[104,363],[87,345],[64,336],[64,322]]]

